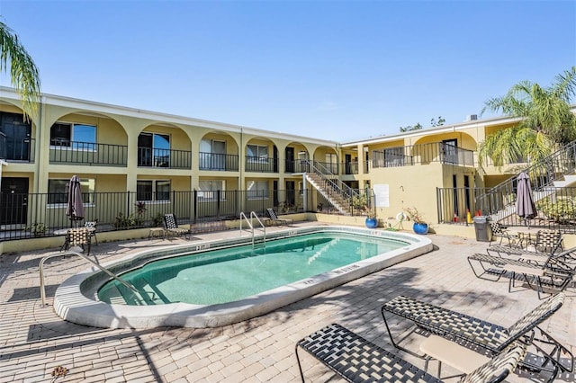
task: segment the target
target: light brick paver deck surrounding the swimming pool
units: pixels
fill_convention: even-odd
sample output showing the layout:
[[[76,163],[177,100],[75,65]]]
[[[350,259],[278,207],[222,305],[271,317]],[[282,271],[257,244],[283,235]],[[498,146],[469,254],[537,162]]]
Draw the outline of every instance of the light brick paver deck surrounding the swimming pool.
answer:
[[[238,232],[202,236],[211,239]],[[501,325],[511,325],[538,304],[536,292],[509,294],[506,281],[473,276],[466,255],[484,252],[487,244],[452,236],[433,236],[437,249],[408,262],[303,299],[265,316],[211,329],[159,328],[110,330],[67,323],[40,307],[38,264],[51,251],[0,255],[0,382],[292,382],[300,375],[294,344],[330,323],[339,323],[397,352],[389,343],[380,307],[399,294],[425,299]],[[183,239],[171,240],[181,243]],[[150,246],[167,245],[153,238],[94,245],[101,263]],[[80,259],[56,258],[46,267],[51,304],[58,284],[88,266]],[[576,352],[575,293],[544,328]],[[423,361],[401,353],[423,367]],[[310,381],[338,381],[307,355],[302,358]],[[65,377],[53,377],[58,366]],[[436,365],[431,364],[436,373]],[[443,369],[445,370],[445,369]],[[58,374],[57,374],[58,375]],[[514,375],[509,381],[542,381]],[[574,375],[558,381],[574,381]]]

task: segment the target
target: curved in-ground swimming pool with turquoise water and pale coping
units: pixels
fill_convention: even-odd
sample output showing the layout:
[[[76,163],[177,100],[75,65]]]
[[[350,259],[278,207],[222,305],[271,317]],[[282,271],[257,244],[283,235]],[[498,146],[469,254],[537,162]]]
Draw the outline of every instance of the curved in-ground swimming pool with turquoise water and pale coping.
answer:
[[[431,249],[427,236],[356,227],[291,228],[254,248],[247,237],[166,246],[104,265],[138,294],[90,270],[58,287],[54,307],[98,327],[229,325]]]

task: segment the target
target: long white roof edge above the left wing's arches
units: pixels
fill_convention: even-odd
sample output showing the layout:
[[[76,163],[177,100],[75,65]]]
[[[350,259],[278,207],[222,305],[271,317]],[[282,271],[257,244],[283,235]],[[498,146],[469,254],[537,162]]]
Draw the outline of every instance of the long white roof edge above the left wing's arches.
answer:
[[[0,97],[13,99],[14,101],[20,100],[20,96],[15,92],[14,88],[6,86],[0,86]],[[311,137],[275,132],[266,129],[250,128],[224,122],[195,119],[192,117],[179,116],[176,114],[163,113],[159,111],[147,111],[138,108],[130,108],[127,106],[113,105],[110,103],[81,100],[57,94],[41,94],[40,102],[44,104],[62,106],[85,111],[116,114],[119,116],[136,117],[140,119],[171,122],[175,124],[193,125],[200,128],[219,129],[243,134],[253,134],[255,136],[263,136],[266,138],[278,138],[288,141],[306,141],[308,143],[325,145],[329,147],[338,146],[337,141],[332,141],[328,139],[311,138]]]

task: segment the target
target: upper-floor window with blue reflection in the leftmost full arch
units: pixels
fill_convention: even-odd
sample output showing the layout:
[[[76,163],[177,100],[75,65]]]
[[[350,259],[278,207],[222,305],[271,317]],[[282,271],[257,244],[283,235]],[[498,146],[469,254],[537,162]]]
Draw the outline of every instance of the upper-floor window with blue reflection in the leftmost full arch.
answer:
[[[96,150],[96,127],[58,121],[50,128],[50,145],[75,150]]]

